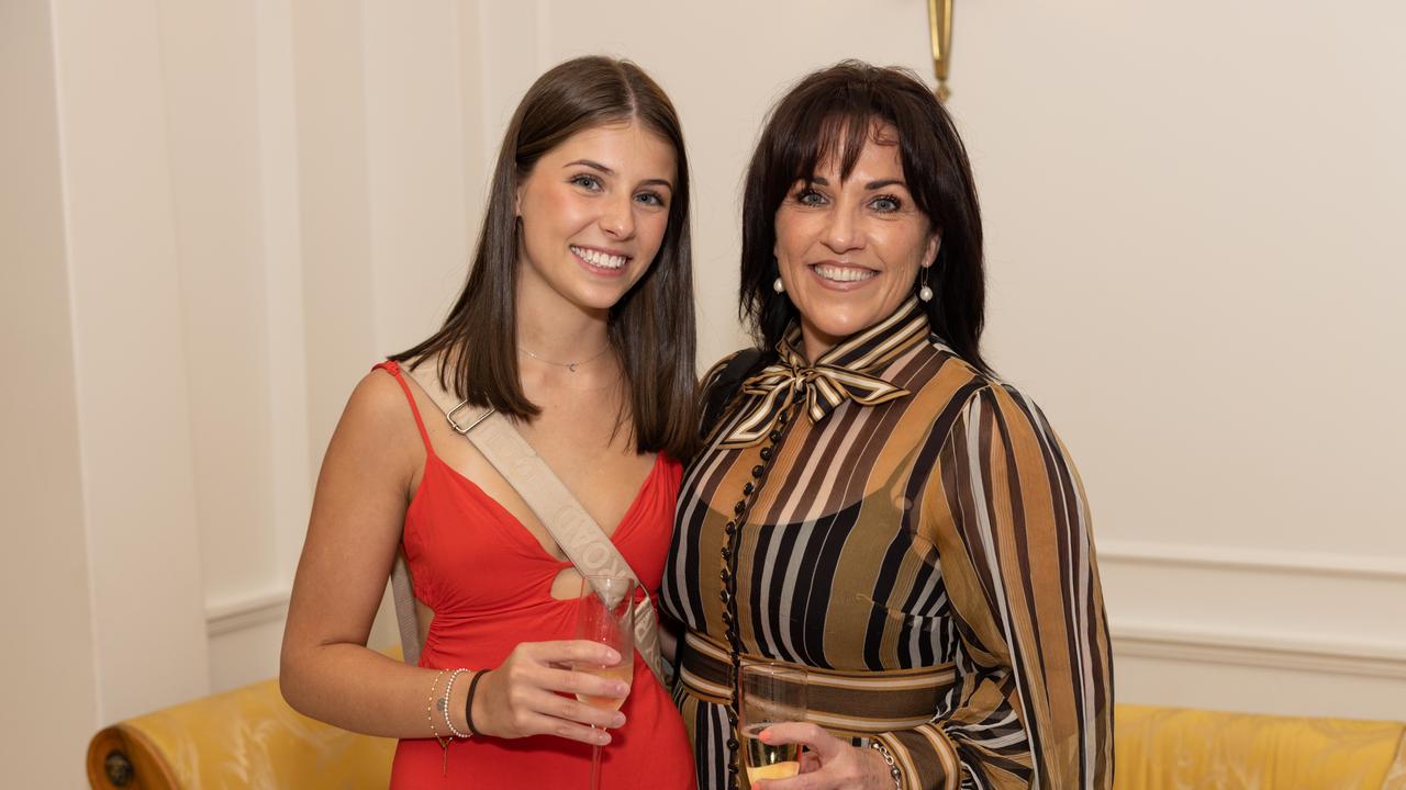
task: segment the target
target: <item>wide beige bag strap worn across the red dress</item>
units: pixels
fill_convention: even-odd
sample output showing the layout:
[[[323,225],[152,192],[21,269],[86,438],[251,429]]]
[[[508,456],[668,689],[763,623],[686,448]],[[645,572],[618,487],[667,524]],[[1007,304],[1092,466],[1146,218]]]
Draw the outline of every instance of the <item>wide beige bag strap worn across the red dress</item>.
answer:
[[[436,371],[437,365],[430,360],[422,363],[415,371],[406,373],[444,412],[444,417],[454,432],[472,441],[474,447],[498,470],[498,474],[503,475],[503,479],[517,491],[517,495],[537,514],[537,519],[547,527],[553,540],[576,566],[576,571],[582,576],[628,576],[638,582],[640,576],[626,562],[620,550],[610,543],[600,524],[576,502],[561,478],[517,433],[513,423],[492,409],[479,409],[444,392]],[[396,566],[401,565],[404,565],[404,558],[396,557]],[[409,611],[409,617],[406,617],[402,614],[401,593],[395,589],[396,575],[392,569],[391,586],[396,602],[395,611],[401,627],[401,642],[406,644],[406,635],[411,635],[418,662],[419,630],[415,620],[415,596],[409,593],[409,574],[405,572],[402,575],[409,593],[409,606],[404,609]],[[650,600],[648,590],[644,590],[644,600],[634,607],[634,647],[659,683],[664,683],[659,623],[654,614],[654,603]],[[406,647],[406,661],[409,661],[409,652]]]

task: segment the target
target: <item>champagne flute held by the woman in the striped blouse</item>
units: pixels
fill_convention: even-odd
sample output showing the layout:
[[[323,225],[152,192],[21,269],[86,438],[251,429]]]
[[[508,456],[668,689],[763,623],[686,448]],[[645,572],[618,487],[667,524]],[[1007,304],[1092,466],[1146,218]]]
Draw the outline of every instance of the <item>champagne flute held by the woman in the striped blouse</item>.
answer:
[[[763,744],[759,735],[772,724],[806,721],[806,669],[793,663],[744,663],[740,683],[738,727],[748,783],[796,776],[800,744]]]

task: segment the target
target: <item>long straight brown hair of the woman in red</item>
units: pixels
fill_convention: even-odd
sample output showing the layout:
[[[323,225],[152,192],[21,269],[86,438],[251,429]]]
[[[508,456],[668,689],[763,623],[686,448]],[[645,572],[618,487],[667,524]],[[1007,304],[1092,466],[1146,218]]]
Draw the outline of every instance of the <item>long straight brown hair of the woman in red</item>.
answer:
[[[540,413],[523,394],[517,373],[517,186],[567,138],[623,121],[637,121],[668,141],[678,173],[659,252],[610,308],[607,335],[626,371],[636,448],[688,458],[696,440],[689,162],[673,104],[628,60],[576,58],[527,89],[498,152],[488,214],[463,292],[439,332],[391,358],[413,367],[440,354],[440,384],[457,396],[523,420]]]

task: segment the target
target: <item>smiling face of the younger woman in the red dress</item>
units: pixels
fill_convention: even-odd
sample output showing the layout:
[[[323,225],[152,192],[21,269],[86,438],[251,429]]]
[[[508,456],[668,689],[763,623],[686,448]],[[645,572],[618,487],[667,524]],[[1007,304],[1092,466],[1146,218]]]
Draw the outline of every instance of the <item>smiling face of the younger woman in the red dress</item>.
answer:
[[[644,277],[669,222],[673,148],[636,122],[576,132],[517,188],[519,299],[599,315]]]

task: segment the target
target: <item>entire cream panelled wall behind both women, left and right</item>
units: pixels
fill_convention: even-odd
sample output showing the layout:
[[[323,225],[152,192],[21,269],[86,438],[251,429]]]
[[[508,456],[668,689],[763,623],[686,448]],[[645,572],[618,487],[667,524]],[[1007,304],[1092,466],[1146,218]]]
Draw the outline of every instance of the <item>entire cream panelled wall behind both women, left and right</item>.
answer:
[[[537,73],[624,55],[678,104],[702,364],[742,342],[768,105],[844,56],[931,75],[920,0],[17,0],[0,22],[0,299],[30,374],[7,537],[48,558],[4,600],[52,645],[6,658],[25,727],[0,742],[72,786],[100,724],[277,671],[342,403],[457,292]],[[1403,28],[1385,3],[959,4],[987,350],[1080,462],[1122,700],[1406,710]]]

